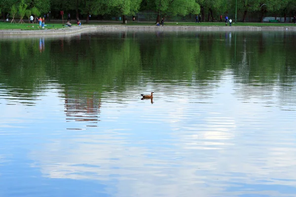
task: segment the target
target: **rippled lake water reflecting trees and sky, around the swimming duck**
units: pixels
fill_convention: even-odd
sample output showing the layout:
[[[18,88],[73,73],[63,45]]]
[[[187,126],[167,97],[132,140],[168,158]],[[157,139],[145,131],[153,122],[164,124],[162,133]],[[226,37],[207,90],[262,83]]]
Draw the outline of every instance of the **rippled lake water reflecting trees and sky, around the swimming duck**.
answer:
[[[1,37],[0,197],[295,197],[295,51],[289,31]]]

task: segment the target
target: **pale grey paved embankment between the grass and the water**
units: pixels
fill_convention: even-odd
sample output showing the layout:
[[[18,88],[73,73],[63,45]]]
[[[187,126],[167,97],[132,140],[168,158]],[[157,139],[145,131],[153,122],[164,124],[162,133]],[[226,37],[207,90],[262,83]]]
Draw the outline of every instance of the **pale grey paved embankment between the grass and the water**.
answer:
[[[1,36],[7,35],[70,35],[89,31],[296,31],[291,26],[122,26],[122,25],[97,25],[73,26],[56,30],[0,30]]]

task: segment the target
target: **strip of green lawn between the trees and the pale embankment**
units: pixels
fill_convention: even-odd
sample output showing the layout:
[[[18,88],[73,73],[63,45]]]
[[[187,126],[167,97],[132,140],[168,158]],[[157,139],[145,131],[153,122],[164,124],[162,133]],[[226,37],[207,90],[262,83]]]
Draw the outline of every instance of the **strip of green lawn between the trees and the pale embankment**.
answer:
[[[66,22],[66,21],[64,21]],[[61,20],[54,20],[45,23],[45,29],[61,29],[69,28],[65,27],[62,24]],[[136,22],[129,21],[127,24],[122,24],[120,21],[90,21],[89,24],[85,24],[82,21],[83,25],[127,25],[127,26],[155,26],[154,22]],[[228,24],[229,25],[229,24]],[[294,23],[232,23],[233,26],[253,26],[253,27],[262,27],[262,26],[296,26]],[[76,26],[73,23],[73,26]],[[219,22],[204,22],[204,23],[195,23],[195,22],[165,22],[165,26],[225,26],[225,23]],[[38,28],[39,24],[20,24],[20,23],[10,23],[10,22],[0,22],[0,30],[42,30]]]

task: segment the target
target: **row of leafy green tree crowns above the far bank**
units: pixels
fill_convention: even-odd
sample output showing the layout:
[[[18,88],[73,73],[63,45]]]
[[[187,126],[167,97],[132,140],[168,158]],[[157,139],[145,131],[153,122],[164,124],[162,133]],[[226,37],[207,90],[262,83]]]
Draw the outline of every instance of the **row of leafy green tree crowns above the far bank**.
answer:
[[[89,21],[89,15],[92,16],[131,16],[138,11],[156,12],[157,19],[162,17],[187,14],[200,14],[202,21],[214,21],[222,14],[234,17],[236,9],[235,0],[24,0],[23,3],[28,8],[36,7],[41,16],[51,11],[53,17],[59,16],[59,11],[63,10],[65,15],[71,13],[73,18],[86,18]],[[16,7],[22,3],[20,0],[0,0],[2,14],[10,12],[11,6]],[[262,4],[265,4],[261,7]],[[258,16],[261,13],[261,20],[267,13],[269,16],[293,16],[296,14],[296,1],[294,0],[237,0],[237,18],[243,18],[246,21],[248,14]],[[40,14],[35,15],[40,17]],[[155,13],[154,13],[155,14]],[[267,16],[266,15],[266,16]],[[253,17],[254,18],[254,17]],[[218,19],[219,20],[219,19]]]

